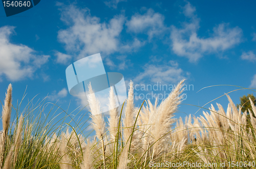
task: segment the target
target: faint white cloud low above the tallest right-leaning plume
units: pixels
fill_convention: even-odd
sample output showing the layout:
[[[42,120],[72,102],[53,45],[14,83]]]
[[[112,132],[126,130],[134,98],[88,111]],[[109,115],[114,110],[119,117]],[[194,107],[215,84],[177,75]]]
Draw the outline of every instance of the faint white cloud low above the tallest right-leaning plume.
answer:
[[[161,82],[162,84],[177,83],[185,78],[185,72],[178,68],[178,63],[174,61],[169,61],[168,65],[146,64],[143,69],[144,72],[139,73],[134,78],[136,83],[144,83],[147,80],[153,83]]]

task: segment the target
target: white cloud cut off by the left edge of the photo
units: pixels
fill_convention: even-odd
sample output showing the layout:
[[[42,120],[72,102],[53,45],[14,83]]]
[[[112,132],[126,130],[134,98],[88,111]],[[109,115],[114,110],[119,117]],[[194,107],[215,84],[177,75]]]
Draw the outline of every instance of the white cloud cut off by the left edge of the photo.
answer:
[[[11,81],[32,77],[33,73],[48,62],[49,55],[35,55],[35,51],[23,44],[10,42],[14,26],[0,27],[0,76]]]

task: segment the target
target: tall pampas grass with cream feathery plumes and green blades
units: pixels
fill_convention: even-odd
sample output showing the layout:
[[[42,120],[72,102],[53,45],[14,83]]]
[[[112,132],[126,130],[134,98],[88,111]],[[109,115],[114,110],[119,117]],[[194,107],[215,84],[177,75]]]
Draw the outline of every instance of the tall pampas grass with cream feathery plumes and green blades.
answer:
[[[156,99],[155,104],[148,100],[141,107],[134,106],[133,83],[130,82],[128,97],[120,112],[112,88],[108,121],[102,117],[99,102],[89,86],[94,139],[90,139],[90,133],[83,134],[86,120],[75,121],[64,110],[62,113],[67,116],[60,118],[57,110],[61,108],[54,110],[56,106],[45,103],[45,99],[35,105],[32,99],[23,110],[20,110],[21,103],[14,108],[9,85],[2,111],[0,167],[174,168],[166,166],[167,161],[217,163],[216,166],[200,168],[223,168],[220,162],[225,162],[225,167],[230,168],[228,162],[231,164],[232,161],[255,162],[256,108],[253,100],[250,100],[252,111],[242,113],[241,107],[238,109],[227,95],[226,111],[217,103],[218,110],[211,105],[203,116],[189,115],[185,121],[175,119],[174,113],[183,97],[183,82],[179,82],[159,106]],[[10,122],[11,110],[16,114],[13,122]],[[72,123],[65,123],[68,117]],[[255,168],[251,163],[250,166],[234,165],[233,168]],[[152,167],[152,164],[155,165]],[[195,167],[184,165],[177,168]]]

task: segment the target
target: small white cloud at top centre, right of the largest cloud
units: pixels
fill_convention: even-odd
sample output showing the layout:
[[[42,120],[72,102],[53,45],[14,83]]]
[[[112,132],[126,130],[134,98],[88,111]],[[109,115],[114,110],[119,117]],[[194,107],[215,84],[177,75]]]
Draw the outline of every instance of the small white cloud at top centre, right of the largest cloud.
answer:
[[[127,31],[134,33],[146,32],[151,39],[155,35],[159,35],[166,31],[164,25],[164,16],[156,13],[153,9],[148,9],[143,15],[135,14],[130,21],[126,22]]]

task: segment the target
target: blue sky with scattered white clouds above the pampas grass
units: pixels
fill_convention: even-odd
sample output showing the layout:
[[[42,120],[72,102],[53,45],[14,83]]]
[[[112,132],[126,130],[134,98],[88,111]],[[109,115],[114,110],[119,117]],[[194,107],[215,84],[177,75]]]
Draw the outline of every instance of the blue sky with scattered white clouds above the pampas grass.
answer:
[[[126,84],[133,80],[141,96],[170,92],[144,91],[143,85],[187,79],[191,88],[176,117],[194,115],[197,106],[240,89],[198,92],[204,87],[256,88],[255,6],[253,1],[41,1],[6,17],[0,5],[0,100],[12,83],[14,102],[27,87],[25,100],[48,95],[47,102],[58,100],[63,109],[69,103],[70,110],[83,106],[69,94],[65,70],[100,53],[105,71],[122,73]],[[239,90],[230,96],[239,103],[247,93],[255,95]],[[139,106],[143,99],[135,100]],[[225,96],[211,103],[216,102],[227,107]]]

